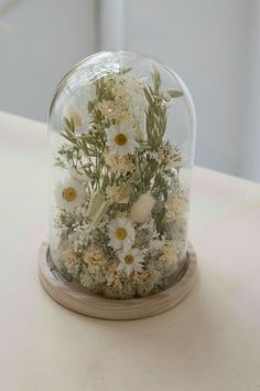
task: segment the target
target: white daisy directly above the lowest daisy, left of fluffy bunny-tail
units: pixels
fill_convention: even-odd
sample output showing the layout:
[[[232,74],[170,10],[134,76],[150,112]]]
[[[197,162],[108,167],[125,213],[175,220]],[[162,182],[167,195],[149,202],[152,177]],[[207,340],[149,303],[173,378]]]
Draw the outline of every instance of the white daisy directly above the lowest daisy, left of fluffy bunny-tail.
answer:
[[[134,241],[134,229],[127,218],[112,220],[108,225],[108,234],[109,245],[115,250],[131,249]]]

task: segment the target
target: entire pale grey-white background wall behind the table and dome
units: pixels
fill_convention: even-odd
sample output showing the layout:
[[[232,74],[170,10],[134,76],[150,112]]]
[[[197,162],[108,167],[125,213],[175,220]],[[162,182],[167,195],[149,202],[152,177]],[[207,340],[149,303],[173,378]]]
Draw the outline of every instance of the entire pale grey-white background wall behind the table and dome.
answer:
[[[259,0],[1,1],[0,109],[44,120],[73,63],[127,49],[169,63],[197,112],[196,163],[260,181]]]

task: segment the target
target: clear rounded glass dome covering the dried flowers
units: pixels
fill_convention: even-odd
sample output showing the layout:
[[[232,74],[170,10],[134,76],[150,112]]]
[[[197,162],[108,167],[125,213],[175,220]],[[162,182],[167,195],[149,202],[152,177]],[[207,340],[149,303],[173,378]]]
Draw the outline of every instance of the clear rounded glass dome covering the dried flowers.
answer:
[[[195,112],[182,80],[144,55],[75,65],[48,119],[50,252],[108,298],[164,289],[185,267]]]

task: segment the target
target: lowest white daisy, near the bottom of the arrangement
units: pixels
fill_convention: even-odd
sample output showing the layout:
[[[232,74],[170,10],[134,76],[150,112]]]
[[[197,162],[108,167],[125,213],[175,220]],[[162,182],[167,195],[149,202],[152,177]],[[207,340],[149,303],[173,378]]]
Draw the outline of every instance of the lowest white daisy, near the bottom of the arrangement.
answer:
[[[119,271],[124,271],[129,276],[132,272],[141,272],[143,266],[143,256],[140,250],[131,249],[118,253],[120,263],[118,265]]]

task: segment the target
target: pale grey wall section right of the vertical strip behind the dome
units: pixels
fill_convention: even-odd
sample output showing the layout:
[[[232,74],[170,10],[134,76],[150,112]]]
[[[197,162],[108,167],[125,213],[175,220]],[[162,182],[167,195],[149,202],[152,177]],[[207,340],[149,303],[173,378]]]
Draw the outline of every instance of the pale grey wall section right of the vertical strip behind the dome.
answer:
[[[251,127],[260,131],[248,112],[257,78],[249,74],[257,47],[250,52],[256,3],[124,1],[124,46],[162,59],[186,82],[197,112],[196,163],[260,180],[250,157],[245,156]],[[253,109],[259,117],[259,109]]]

